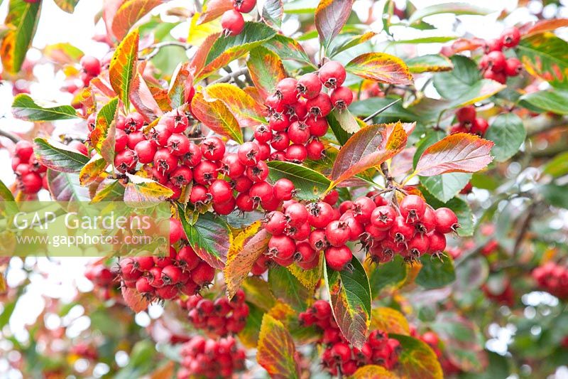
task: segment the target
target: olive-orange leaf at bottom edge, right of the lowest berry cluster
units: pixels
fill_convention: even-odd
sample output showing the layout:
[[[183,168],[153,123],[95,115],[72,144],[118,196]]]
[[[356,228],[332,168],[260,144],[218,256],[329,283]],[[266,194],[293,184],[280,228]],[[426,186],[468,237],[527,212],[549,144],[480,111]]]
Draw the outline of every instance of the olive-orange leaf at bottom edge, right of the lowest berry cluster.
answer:
[[[412,379],[444,378],[436,353],[426,343],[413,337],[394,333],[389,337],[398,340],[402,346],[396,370],[400,376]]]

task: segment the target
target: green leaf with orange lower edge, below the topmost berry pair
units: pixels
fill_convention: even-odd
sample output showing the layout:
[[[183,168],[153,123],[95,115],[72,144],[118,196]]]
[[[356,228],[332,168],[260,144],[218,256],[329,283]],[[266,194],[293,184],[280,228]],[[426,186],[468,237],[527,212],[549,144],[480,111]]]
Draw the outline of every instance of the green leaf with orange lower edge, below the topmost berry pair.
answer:
[[[239,35],[217,38],[207,51],[203,69],[194,74],[195,81],[207,78],[219,68],[249,53],[251,49],[272,38],[275,33],[276,31],[265,23],[246,22]]]

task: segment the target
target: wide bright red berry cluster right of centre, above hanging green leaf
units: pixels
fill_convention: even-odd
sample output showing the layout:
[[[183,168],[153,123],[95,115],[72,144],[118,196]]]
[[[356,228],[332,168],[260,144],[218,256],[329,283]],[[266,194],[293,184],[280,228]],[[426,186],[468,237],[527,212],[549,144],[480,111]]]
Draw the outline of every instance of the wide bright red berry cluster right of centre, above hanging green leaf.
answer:
[[[323,250],[327,266],[341,271],[353,257],[346,243],[359,241],[373,262],[389,262],[395,254],[413,262],[424,254],[441,254],[444,234],[459,228],[452,210],[433,210],[417,195],[405,196],[400,205],[376,191],[334,208],[337,200],[337,192],[332,192],[324,201],[288,201],[283,212],[269,213],[264,220],[272,235],[268,256],[283,266],[296,260],[309,269]]]

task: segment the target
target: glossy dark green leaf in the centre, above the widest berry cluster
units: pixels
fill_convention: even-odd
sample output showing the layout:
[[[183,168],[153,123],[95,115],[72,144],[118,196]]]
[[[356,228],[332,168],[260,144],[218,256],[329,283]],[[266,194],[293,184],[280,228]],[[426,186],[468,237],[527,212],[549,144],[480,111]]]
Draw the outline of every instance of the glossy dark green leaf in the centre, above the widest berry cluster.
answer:
[[[272,181],[288,178],[293,181],[297,198],[315,200],[323,196],[331,181],[317,171],[308,169],[300,164],[284,161],[268,161],[268,174]]]

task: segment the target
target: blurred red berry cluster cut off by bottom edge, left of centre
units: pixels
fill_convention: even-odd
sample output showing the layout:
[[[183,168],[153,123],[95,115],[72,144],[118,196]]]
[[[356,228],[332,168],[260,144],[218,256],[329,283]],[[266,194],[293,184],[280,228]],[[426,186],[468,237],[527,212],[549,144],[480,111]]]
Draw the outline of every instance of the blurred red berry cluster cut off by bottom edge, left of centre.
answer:
[[[232,336],[218,340],[195,336],[182,345],[180,354],[182,368],[178,370],[178,379],[232,378],[245,368],[245,351]]]

